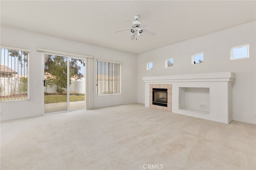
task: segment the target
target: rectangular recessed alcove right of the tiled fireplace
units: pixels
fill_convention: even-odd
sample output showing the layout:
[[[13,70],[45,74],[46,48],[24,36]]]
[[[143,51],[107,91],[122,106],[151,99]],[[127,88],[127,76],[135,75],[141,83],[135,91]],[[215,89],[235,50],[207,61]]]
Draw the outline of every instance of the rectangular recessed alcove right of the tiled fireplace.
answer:
[[[210,88],[179,87],[179,109],[209,114]]]

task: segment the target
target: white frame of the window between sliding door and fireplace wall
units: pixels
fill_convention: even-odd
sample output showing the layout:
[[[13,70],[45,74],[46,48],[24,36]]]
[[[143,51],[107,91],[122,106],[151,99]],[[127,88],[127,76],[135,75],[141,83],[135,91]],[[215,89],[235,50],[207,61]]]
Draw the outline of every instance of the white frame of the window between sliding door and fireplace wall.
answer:
[[[119,71],[119,92],[120,93],[108,93],[107,94],[98,94],[98,61],[103,61],[107,63],[115,63],[120,64],[120,71]],[[109,61],[109,60],[102,60],[102,59],[96,59],[96,65],[97,65],[97,73],[96,73],[96,95],[102,96],[102,95],[120,95],[122,93],[122,62],[117,61]],[[109,88],[109,87],[108,87]]]

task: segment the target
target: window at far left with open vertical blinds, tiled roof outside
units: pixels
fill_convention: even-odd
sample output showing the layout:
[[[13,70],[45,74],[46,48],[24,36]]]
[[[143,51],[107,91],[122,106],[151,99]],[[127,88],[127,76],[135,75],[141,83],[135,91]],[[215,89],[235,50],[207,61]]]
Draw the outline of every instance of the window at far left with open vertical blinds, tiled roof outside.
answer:
[[[28,99],[28,49],[1,46],[0,101]]]

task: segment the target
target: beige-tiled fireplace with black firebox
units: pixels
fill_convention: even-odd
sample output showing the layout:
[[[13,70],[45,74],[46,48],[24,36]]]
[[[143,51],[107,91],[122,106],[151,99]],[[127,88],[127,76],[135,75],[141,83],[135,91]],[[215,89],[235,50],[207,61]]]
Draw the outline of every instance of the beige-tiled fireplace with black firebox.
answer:
[[[149,107],[162,111],[172,111],[172,84],[149,85]]]

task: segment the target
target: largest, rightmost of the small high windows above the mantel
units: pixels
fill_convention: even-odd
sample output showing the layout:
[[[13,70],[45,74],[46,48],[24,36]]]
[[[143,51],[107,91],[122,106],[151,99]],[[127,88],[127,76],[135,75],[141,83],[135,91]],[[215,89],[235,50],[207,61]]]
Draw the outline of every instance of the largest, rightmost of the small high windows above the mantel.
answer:
[[[249,58],[249,44],[231,47],[230,59]]]

